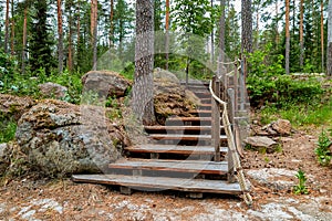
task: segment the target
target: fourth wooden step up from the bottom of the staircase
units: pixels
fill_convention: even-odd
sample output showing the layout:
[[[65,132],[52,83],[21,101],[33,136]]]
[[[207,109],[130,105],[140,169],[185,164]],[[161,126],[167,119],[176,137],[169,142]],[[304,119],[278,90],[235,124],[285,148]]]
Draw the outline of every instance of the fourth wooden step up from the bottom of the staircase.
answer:
[[[178,134],[152,134],[148,135],[149,138],[156,140],[187,140],[187,141],[198,141],[198,140],[211,140],[211,135],[178,135]],[[227,140],[227,136],[220,135],[220,141]]]

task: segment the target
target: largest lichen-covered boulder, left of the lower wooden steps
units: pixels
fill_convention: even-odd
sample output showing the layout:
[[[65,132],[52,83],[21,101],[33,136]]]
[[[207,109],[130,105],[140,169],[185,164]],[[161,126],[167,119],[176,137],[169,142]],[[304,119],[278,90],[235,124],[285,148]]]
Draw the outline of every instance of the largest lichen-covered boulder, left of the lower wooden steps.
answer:
[[[15,138],[33,168],[51,177],[103,171],[127,141],[104,108],[53,99],[21,117]]]

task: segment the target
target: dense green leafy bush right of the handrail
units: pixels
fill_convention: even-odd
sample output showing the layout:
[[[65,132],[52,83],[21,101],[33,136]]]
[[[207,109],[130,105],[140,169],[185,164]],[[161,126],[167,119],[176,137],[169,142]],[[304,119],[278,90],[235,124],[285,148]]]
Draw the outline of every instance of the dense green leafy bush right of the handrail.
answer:
[[[250,75],[248,76],[248,93],[253,106],[264,103],[276,103],[279,107],[287,104],[318,104],[321,101],[323,90],[320,82],[308,76],[297,80],[295,76],[283,75],[283,56],[279,55],[276,63],[269,63],[268,54],[271,44],[263,51],[252,53],[248,63]]]

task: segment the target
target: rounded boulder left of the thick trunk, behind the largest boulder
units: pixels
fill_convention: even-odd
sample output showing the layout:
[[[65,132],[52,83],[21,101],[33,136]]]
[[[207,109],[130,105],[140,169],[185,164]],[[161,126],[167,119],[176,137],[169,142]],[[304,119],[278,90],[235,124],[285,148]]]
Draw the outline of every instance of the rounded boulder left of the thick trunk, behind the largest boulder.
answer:
[[[95,92],[103,97],[123,97],[131,82],[111,71],[91,71],[82,76],[83,92]]]

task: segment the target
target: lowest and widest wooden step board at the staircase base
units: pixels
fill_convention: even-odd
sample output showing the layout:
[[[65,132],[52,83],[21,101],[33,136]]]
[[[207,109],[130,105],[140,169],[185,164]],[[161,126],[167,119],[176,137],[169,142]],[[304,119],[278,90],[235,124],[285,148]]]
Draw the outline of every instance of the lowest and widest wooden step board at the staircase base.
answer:
[[[141,177],[123,175],[73,175],[75,182],[124,186],[138,190],[178,190],[186,192],[209,192],[225,194],[240,194],[239,183],[228,183],[226,180],[201,180],[166,177]]]

